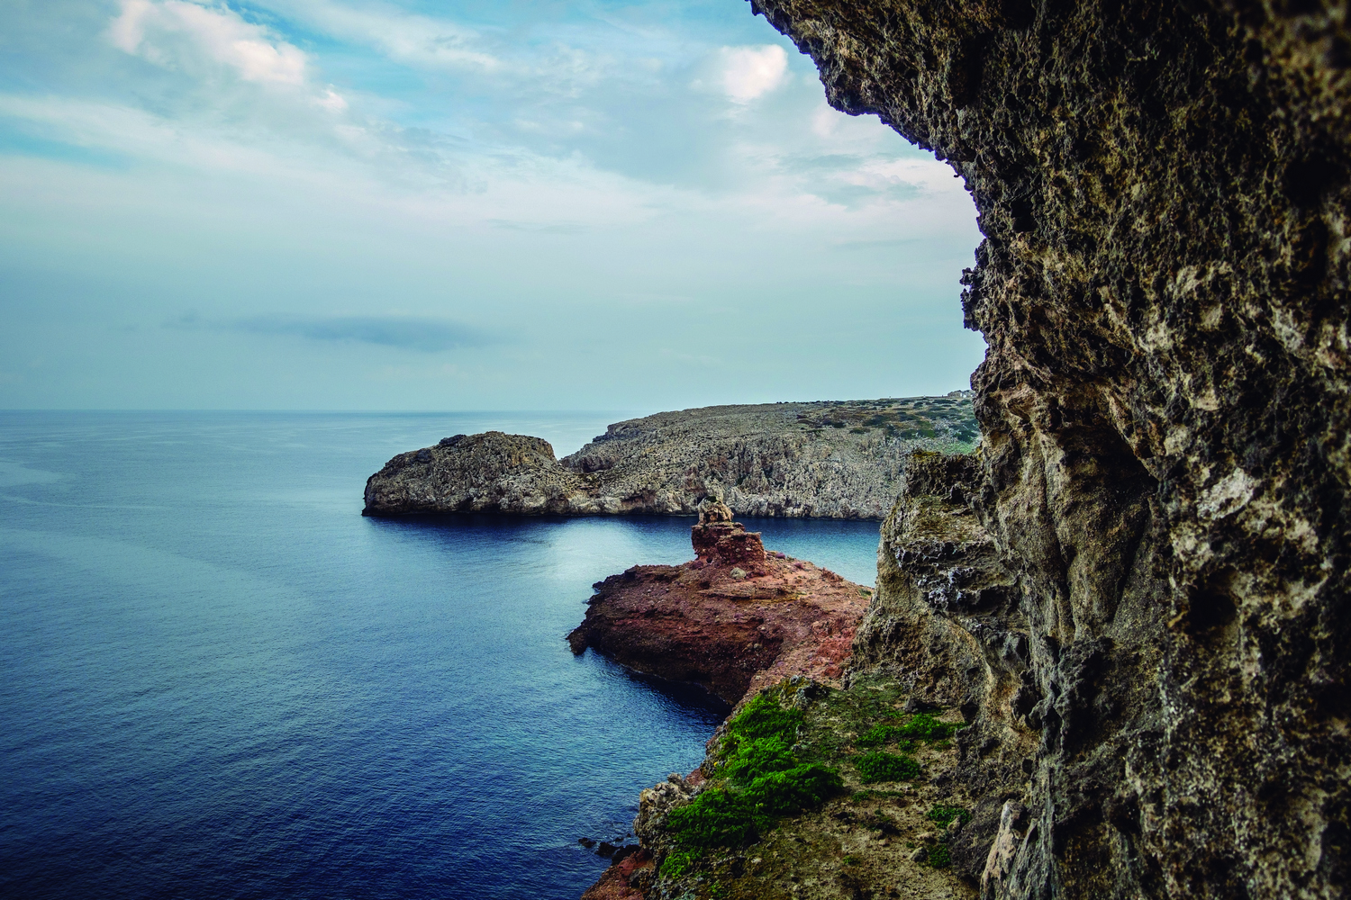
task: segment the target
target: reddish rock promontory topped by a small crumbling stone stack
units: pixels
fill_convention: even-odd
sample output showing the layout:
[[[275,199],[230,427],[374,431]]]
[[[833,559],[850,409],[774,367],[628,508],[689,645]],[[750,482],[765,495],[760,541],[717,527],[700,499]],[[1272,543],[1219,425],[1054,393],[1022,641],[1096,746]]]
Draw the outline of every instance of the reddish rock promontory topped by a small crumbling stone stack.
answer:
[[[732,511],[705,501],[696,559],[635,565],[596,583],[567,641],[639,672],[700,684],[735,706],[790,676],[838,684],[873,591],[770,553]]]

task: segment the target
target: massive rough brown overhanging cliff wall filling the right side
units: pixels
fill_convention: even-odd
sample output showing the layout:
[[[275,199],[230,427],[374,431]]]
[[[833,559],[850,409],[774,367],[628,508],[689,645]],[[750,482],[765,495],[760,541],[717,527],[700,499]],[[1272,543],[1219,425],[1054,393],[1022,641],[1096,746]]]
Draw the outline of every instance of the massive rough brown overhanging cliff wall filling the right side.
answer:
[[[986,236],[985,447],[902,501],[859,638],[963,694],[986,892],[1344,896],[1347,5],[753,8]]]

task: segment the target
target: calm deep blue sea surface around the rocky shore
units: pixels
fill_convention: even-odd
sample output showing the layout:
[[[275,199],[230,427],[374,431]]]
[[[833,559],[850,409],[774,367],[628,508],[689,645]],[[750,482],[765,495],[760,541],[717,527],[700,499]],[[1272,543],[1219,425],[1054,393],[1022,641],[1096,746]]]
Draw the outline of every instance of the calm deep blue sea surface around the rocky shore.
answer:
[[[576,900],[723,710],[563,636],[688,518],[370,519],[397,452],[624,413],[0,413],[0,896]],[[747,521],[871,584],[875,522]]]

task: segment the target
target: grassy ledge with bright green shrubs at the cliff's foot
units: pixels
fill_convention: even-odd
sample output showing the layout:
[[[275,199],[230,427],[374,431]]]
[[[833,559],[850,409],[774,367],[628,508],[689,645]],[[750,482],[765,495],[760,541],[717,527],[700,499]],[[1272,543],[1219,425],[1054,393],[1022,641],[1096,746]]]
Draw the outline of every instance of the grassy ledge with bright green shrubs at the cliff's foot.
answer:
[[[969,799],[944,783],[955,712],[907,714],[911,694],[886,677],[847,690],[789,679],[747,700],[709,743],[707,781],[642,820],[659,869],[634,882],[647,896],[967,897],[947,870],[948,841]],[[878,729],[905,731],[905,772],[867,780],[861,746]],[[875,741],[873,742],[875,743]],[[894,754],[889,754],[894,756]],[[957,823],[954,826],[954,823]]]

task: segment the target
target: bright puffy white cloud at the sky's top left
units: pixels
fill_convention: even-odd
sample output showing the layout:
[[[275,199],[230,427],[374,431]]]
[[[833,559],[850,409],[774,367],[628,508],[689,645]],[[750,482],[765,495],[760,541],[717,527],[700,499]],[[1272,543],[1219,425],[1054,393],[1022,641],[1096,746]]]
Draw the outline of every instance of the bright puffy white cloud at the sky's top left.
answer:
[[[209,61],[245,81],[301,85],[305,54],[245,22],[226,5],[186,0],[122,0],[108,30],[113,46],[166,69],[193,70]]]

